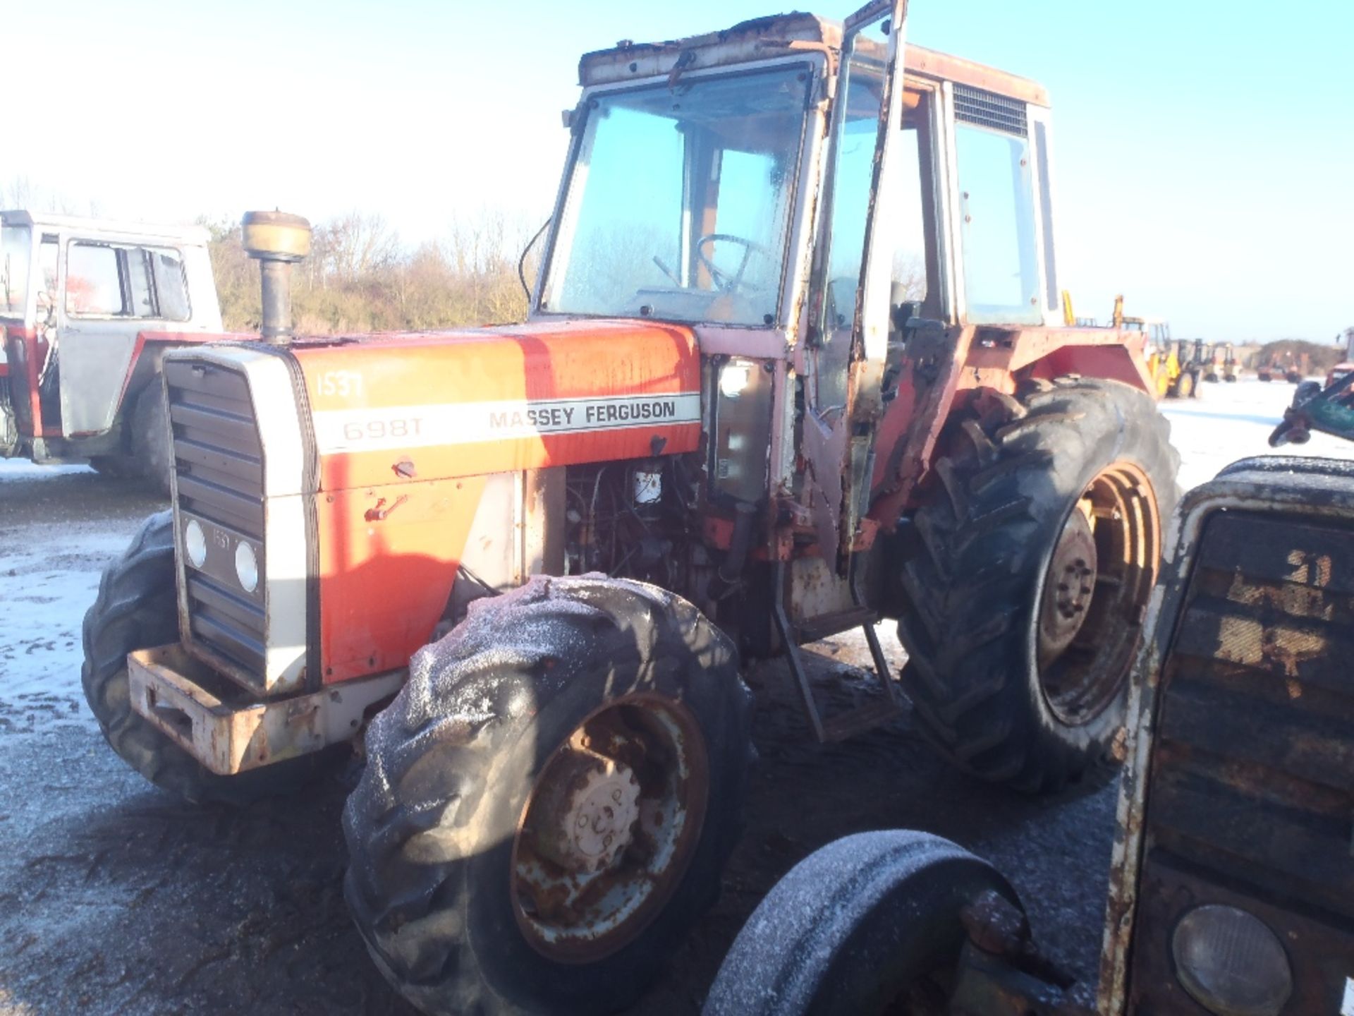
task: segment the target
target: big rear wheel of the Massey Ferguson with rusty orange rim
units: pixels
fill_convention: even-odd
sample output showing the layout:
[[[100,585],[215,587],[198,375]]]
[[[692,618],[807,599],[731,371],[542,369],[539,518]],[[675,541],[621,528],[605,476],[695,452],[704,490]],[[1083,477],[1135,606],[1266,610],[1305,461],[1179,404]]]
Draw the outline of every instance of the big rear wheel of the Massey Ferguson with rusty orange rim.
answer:
[[[961,769],[1043,792],[1120,761],[1177,500],[1169,432],[1143,391],[1062,378],[963,421],[937,461],[898,634],[918,727]]]

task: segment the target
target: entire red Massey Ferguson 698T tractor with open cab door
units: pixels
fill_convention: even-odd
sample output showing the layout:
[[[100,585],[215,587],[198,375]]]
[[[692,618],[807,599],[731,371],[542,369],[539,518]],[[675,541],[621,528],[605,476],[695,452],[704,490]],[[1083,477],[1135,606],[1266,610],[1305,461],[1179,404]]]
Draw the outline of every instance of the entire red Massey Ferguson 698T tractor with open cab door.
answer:
[[[1044,89],[904,14],[585,56],[523,325],[292,337],[264,213],[261,340],[165,359],[173,511],[104,574],[89,702],[195,801],[357,746],[347,897],[428,1012],[643,992],[738,837],[739,658],[821,740],[902,684],[1026,791],[1121,753],[1175,501],[1141,335],[1055,324]],[[823,715],[800,646],[854,627],[880,695]]]

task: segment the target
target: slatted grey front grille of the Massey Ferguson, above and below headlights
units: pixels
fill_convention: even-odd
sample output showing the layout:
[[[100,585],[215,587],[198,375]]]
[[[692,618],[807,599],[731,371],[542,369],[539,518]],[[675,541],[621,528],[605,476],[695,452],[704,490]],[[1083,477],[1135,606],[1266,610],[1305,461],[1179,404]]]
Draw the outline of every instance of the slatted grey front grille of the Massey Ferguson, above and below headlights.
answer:
[[[200,362],[165,363],[173,428],[177,511],[230,538],[263,546],[263,443],[242,374]],[[260,558],[263,555],[260,554]],[[263,679],[265,630],[260,578],[255,596],[218,569],[185,568],[192,641]]]

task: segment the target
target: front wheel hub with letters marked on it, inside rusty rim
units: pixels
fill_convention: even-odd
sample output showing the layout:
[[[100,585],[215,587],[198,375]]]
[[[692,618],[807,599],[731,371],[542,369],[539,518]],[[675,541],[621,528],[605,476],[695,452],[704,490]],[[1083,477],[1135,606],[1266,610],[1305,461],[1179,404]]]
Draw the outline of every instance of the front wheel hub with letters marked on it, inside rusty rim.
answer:
[[[639,780],[624,763],[574,748],[559,759],[562,779],[544,792],[533,814],[535,845],[569,871],[611,867],[639,821]]]

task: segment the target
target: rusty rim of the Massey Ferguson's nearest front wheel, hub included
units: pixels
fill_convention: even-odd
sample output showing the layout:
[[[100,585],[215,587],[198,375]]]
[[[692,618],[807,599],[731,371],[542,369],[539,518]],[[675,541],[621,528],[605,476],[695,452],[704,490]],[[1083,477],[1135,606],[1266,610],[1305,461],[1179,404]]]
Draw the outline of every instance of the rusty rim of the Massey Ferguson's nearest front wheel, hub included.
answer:
[[[550,959],[632,941],[691,862],[709,797],[700,729],[654,694],[608,703],[542,767],[513,840],[517,927]]]

